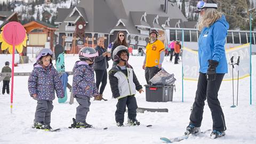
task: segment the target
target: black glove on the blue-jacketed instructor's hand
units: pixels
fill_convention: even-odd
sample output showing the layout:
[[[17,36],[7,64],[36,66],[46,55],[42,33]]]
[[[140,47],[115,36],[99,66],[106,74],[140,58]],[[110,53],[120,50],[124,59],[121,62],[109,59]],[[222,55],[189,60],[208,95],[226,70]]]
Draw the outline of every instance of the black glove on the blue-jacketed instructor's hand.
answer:
[[[208,60],[209,66],[206,73],[207,81],[215,81],[216,79],[216,67],[219,65],[218,61]]]

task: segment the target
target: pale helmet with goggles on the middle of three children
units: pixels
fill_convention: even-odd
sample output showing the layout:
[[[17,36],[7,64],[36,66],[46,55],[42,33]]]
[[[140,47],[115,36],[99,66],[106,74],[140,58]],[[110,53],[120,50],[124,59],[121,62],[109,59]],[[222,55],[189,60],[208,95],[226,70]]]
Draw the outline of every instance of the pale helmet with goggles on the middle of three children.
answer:
[[[86,46],[79,51],[79,59],[83,61],[90,60],[93,62],[94,58],[98,56],[99,56],[98,52],[92,47]]]

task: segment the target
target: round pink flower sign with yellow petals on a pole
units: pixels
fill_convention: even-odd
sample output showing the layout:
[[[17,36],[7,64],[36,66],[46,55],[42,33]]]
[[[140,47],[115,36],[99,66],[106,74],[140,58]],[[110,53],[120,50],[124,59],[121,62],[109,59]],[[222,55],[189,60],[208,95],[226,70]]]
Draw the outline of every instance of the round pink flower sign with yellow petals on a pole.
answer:
[[[7,23],[2,27],[0,34],[0,43],[2,51],[8,49],[12,53],[14,46],[19,53],[22,52],[23,46],[27,46],[27,34],[25,28],[16,21]],[[14,49],[14,50],[15,50]]]

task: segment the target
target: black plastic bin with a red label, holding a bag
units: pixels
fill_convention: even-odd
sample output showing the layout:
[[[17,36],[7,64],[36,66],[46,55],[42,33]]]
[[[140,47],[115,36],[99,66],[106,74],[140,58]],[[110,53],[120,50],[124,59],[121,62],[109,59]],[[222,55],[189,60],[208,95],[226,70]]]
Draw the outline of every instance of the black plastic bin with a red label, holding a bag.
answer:
[[[144,85],[146,87],[146,101],[172,101],[174,85]]]

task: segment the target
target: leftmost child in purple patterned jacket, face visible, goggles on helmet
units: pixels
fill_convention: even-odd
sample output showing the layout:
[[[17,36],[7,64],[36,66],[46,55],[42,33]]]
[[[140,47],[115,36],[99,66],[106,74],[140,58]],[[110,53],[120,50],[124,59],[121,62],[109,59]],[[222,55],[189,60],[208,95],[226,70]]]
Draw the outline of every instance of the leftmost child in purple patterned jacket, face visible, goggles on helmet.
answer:
[[[51,130],[52,101],[64,97],[58,71],[52,66],[52,51],[42,49],[36,57],[37,62],[28,78],[28,91],[33,99],[37,100],[34,127],[36,129]]]

